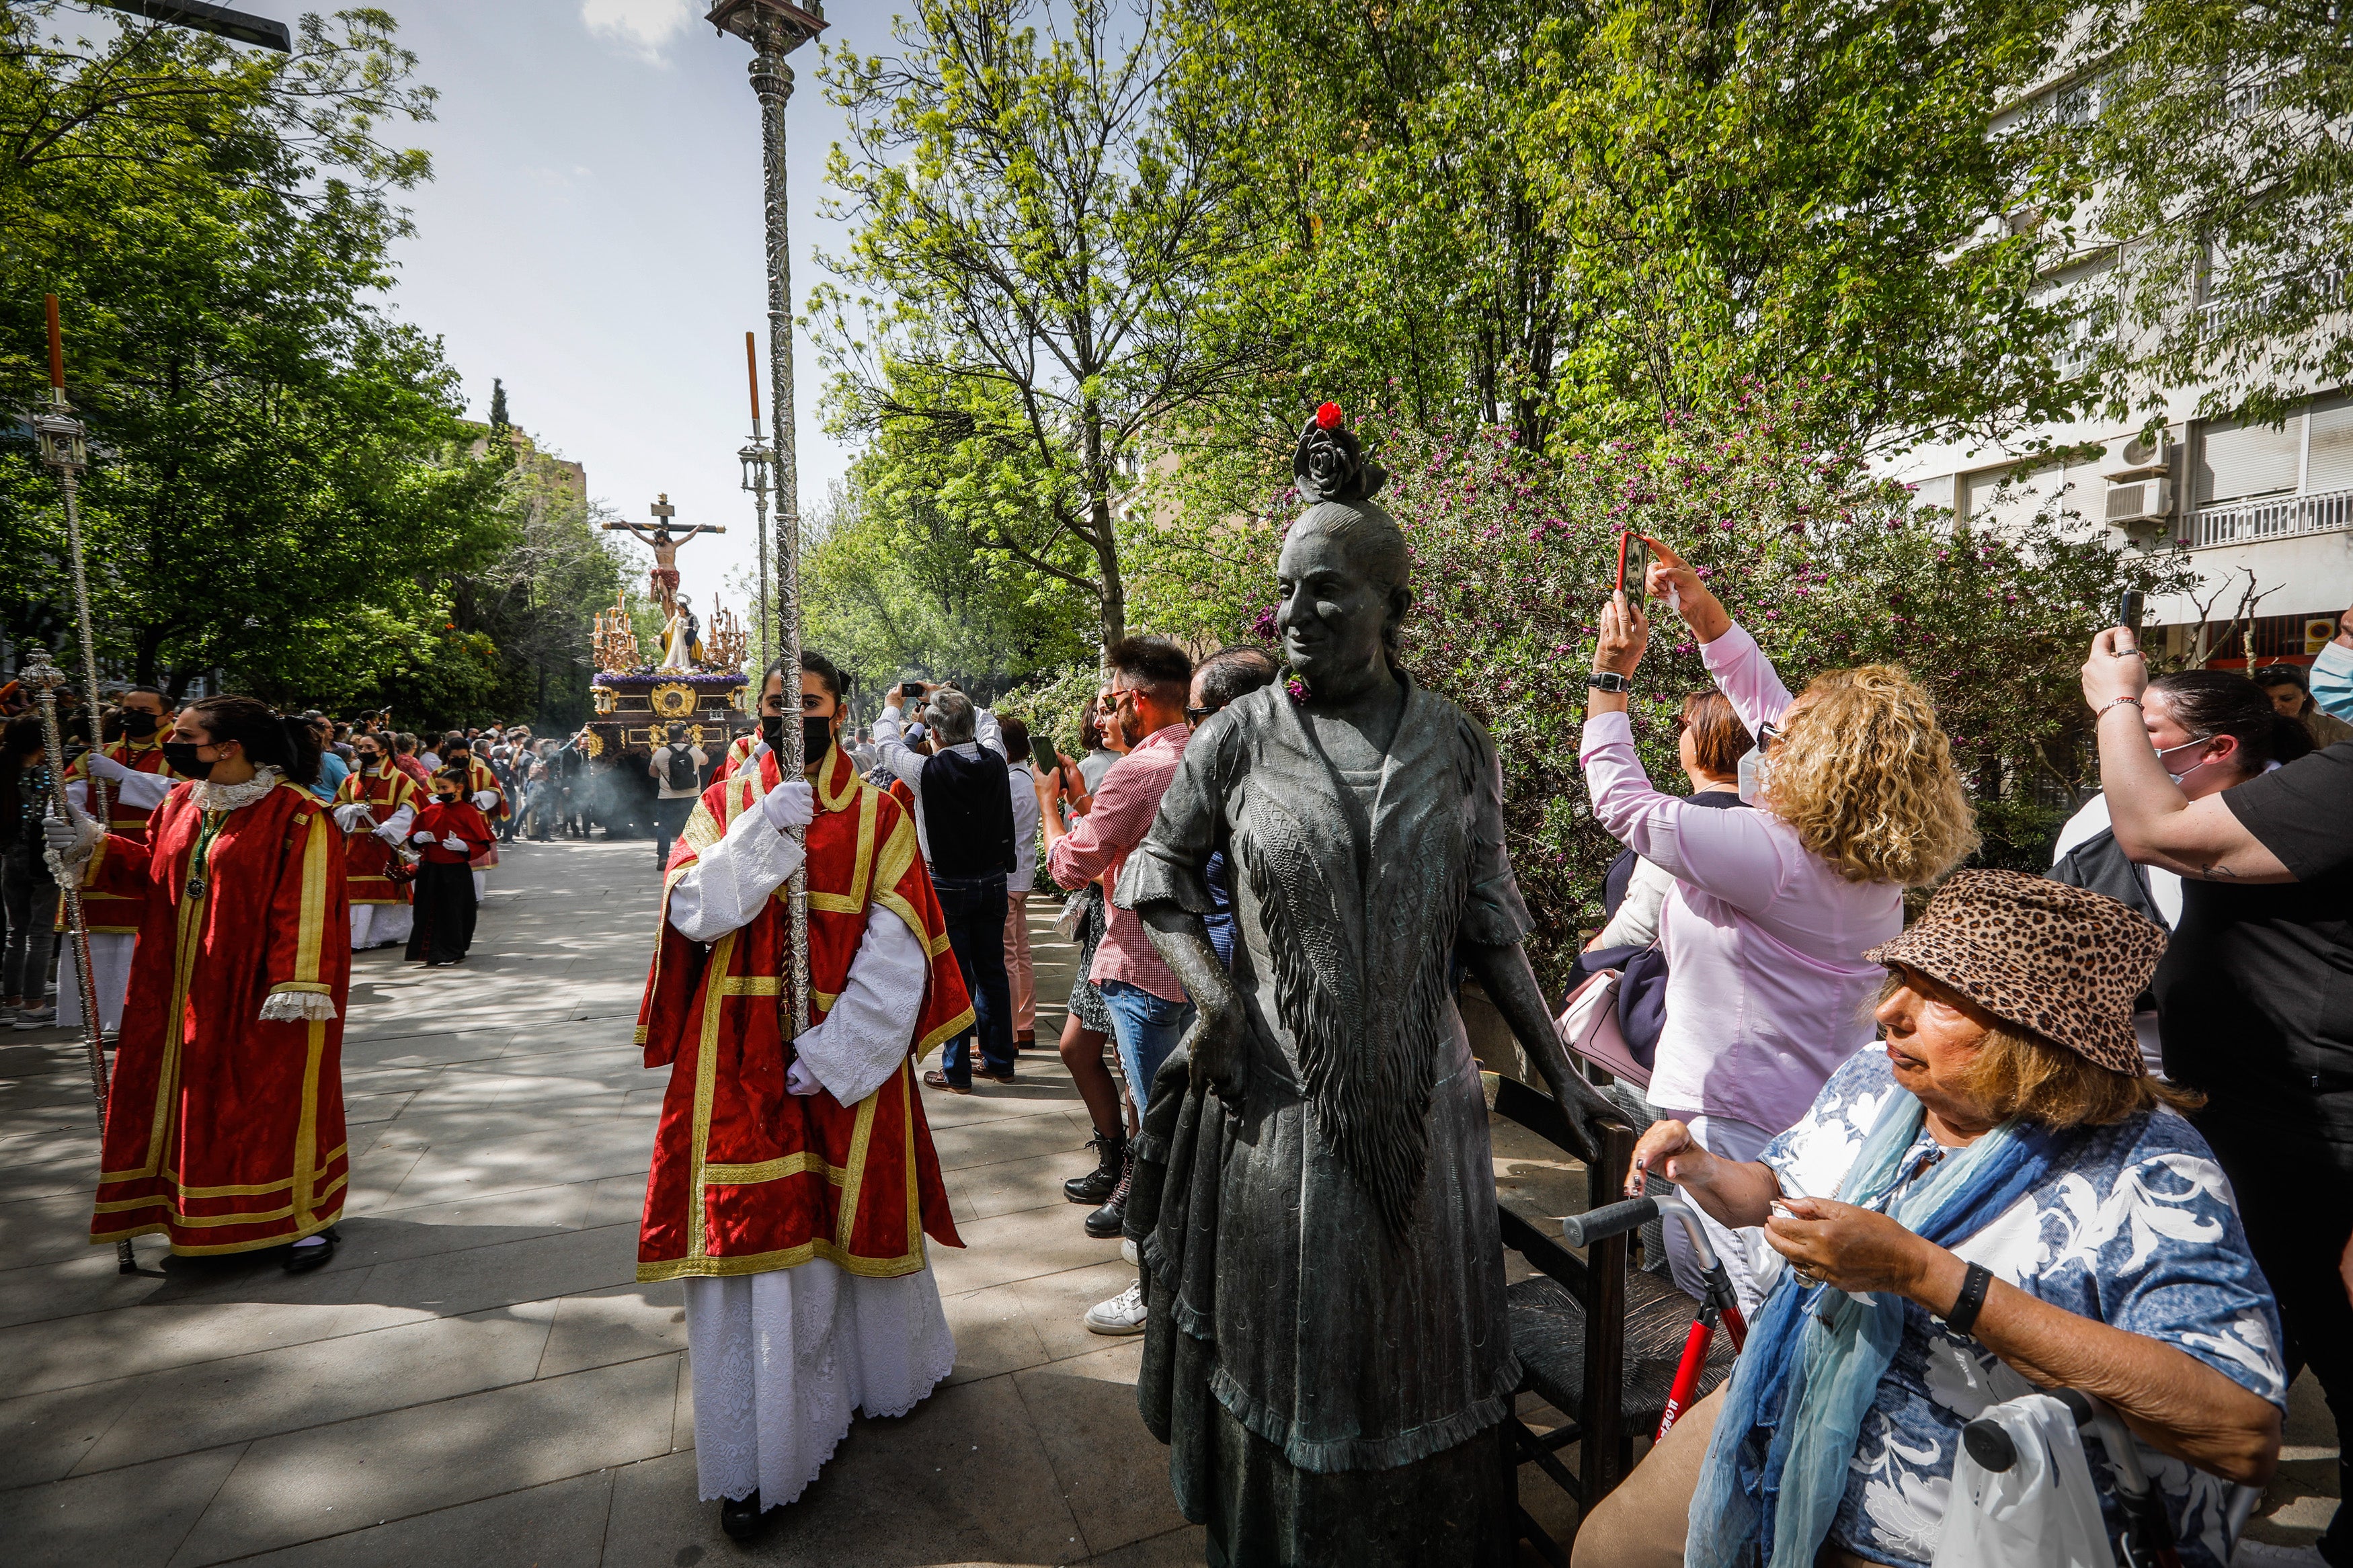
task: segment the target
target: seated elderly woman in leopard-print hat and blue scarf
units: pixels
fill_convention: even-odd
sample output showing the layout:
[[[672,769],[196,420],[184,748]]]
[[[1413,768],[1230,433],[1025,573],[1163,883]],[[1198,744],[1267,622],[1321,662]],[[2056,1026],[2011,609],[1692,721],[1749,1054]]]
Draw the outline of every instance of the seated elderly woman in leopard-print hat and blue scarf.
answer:
[[[1635,1182],[1765,1225],[1788,1269],[1732,1382],[1586,1521],[1579,1568],[1927,1563],[1960,1429],[2035,1387],[2115,1406],[2186,1568],[2228,1563],[2228,1483],[2271,1476],[2287,1387],[2231,1187],[2132,1037],[2162,947],[2113,898],[1960,872],[1871,950],[1887,1044],[1760,1161],[1680,1121],[1642,1135]]]

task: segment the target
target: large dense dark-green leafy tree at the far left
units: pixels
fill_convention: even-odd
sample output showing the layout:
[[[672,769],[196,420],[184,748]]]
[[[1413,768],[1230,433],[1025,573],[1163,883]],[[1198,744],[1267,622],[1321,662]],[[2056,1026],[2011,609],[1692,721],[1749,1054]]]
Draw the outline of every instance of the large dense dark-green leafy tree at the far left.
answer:
[[[104,42],[0,26],[0,400],[45,378],[40,296],[68,320],[104,654],[144,682],[221,668],[266,691],[332,682],[362,609],[428,625],[433,585],[506,548],[496,468],[461,451],[438,348],[372,296],[428,113],[381,12],[308,19],[292,56],[153,26]],[[0,529],[61,557],[54,491],[0,449]],[[12,625],[56,616],[38,599]],[[42,592],[47,590],[47,592]]]

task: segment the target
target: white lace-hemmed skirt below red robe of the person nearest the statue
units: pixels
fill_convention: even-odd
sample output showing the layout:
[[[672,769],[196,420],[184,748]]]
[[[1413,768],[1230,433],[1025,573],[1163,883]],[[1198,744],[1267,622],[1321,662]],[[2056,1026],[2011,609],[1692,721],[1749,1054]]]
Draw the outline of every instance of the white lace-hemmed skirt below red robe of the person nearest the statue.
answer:
[[[861,1279],[824,1258],[687,1279],[694,1472],[706,1502],[793,1502],[849,1434],[849,1413],[906,1415],[955,1368],[932,1265]]]

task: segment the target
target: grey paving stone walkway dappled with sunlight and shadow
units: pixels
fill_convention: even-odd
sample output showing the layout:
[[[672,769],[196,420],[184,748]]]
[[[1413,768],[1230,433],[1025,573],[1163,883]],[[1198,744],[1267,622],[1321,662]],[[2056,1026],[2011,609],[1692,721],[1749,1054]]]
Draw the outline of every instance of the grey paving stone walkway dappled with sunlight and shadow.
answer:
[[[927,1093],[965,1251],[934,1248],[951,1380],[856,1422],[755,1547],[696,1500],[685,1309],[635,1284],[664,1074],[631,1027],[654,929],[645,844],[515,844],[471,961],[353,966],[353,1187],[336,1260],[176,1260],[85,1241],[96,1173],[80,1044],[0,1034],[0,1561],[120,1568],[692,1568],[1202,1561],[1134,1403],[1141,1342],[1078,1316],[1132,1269],[1061,1199],[1087,1119],[1054,1056]],[[1045,907],[1038,907],[1045,905]],[[1073,947],[1033,900],[1040,1039]],[[1506,1201],[1584,1178],[1499,1128]],[[2311,1540],[2334,1432],[2299,1387],[2271,1540]],[[1539,1429],[1541,1406],[1522,1410]],[[1522,1502],[1569,1505],[1534,1469]],[[1527,1556],[1525,1561],[1537,1561]]]

